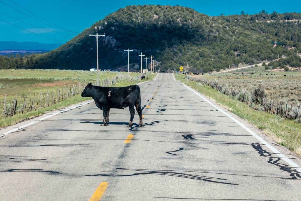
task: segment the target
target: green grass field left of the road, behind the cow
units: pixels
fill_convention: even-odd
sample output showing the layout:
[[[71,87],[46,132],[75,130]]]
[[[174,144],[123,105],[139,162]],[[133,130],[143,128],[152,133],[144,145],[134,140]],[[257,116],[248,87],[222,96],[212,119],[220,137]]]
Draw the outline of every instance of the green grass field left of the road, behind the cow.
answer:
[[[116,79],[118,75],[118,79]],[[149,80],[152,80],[156,74],[147,74]],[[145,80],[138,79],[140,73],[130,73],[130,76],[126,72],[115,73],[109,71],[99,72],[99,83],[110,85],[111,80],[116,80],[111,86],[128,86],[133,85]],[[58,108],[66,107],[78,102],[87,100],[79,95],[66,99],[66,93],[68,87],[69,92],[73,86],[77,86],[77,93],[82,90],[80,87],[84,87],[85,84],[91,82],[96,85],[96,71],[72,71],[72,70],[0,70],[0,127],[6,127],[12,124],[16,124],[19,121],[33,118],[44,114],[46,111],[55,110]],[[80,83],[80,85],[79,85]],[[79,87],[80,86],[80,87]],[[45,106],[46,93],[56,95],[57,91],[60,91],[61,100],[56,99],[52,103],[54,105]],[[64,91],[64,97],[62,97],[62,91]],[[42,96],[39,94],[42,92]],[[27,105],[30,105],[30,97],[33,98],[36,94],[35,108],[33,111],[20,114],[22,111],[22,104],[24,97],[27,97]],[[17,113],[11,117],[3,117],[3,105],[6,95],[6,111],[11,109],[13,100],[17,96]],[[70,94],[69,94],[70,95]],[[39,108],[39,97],[42,100],[42,107]],[[51,100],[49,101],[51,102]],[[24,104],[23,104],[24,105]],[[47,106],[47,105],[46,105]],[[8,108],[7,108],[8,107]],[[17,110],[18,109],[18,110]]]

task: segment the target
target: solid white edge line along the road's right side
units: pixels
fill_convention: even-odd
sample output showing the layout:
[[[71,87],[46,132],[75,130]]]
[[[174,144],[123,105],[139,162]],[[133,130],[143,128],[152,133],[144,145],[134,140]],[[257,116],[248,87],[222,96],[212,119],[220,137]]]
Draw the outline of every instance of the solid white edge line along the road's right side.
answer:
[[[240,125],[241,127],[243,127],[245,130],[247,130],[249,133],[251,133],[254,137],[256,137],[260,142],[262,142],[262,144],[264,144],[265,146],[267,146],[272,152],[274,152],[275,154],[277,154],[281,159],[283,159],[284,161],[286,161],[290,166],[292,166],[292,168],[295,168],[298,172],[301,172],[301,168],[294,163],[293,161],[291,161],[290,159],[288,159],[285,155],[283,155],[281,152],[279,152],[277,149],[275,149],[274,147],[272,147],[269,143],[267,143],[265,140],[263,140],[261,137],[259,137],[256,133],[254,133],[252,130],[250,130],[249,128],[247,128],[244,124],[240,123],[237,119],[235,119],[234,117],[232,117],[231,115],[229,115],[228,113],[226,113],[225,111],[222,111],[220,108],[216,107],[215,105],[213,105],[210,101],[208,101],[207,99],[205,99],[203,96],[201,96],[199,93],[197,93],[196,91],[192,90],[190,87],[186,86],[184,83],[178,81],[179,83],[181,83],[183,86],[185,86],[186,88],[188,88],[189,90],[191,90],[192,92],[194,92],[195,94],[197,94],[198,96],[200,96],[202,99],[204,99],[206,102],[208,102],[210,105],[212,105],[214,108],[216,108],[217,110],[221,111],[222,113],[224,113],[226,116],[228,116],[229,118],[231,118],[233,121],[235,121],[238,125]]]

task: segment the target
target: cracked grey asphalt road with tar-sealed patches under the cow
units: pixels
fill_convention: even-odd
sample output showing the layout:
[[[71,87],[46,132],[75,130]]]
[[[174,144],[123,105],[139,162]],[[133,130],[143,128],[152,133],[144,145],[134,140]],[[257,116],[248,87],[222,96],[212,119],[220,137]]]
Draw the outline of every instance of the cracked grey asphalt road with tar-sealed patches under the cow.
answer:
[[[90,102],[0,130],[0,200],[301,200],[292,152],[172,74],[140,87],[143,127]]]

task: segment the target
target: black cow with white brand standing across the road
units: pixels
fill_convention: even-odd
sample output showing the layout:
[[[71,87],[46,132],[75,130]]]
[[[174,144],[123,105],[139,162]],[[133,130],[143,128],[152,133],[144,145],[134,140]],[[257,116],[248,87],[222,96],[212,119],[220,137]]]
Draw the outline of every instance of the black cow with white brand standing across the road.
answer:
[[[142,126],[142,109],[140,87],[138,85],[125,87],[100,87],[89,83],[82,91],[82,97],[92,97],[95,105],[102,110],[104,121],[101,126],[109,125],[110,108],[124,109],[129,107],[131,118],[128,127],[132,126],[135,115],[134,105],[139,114],[139,127]]]

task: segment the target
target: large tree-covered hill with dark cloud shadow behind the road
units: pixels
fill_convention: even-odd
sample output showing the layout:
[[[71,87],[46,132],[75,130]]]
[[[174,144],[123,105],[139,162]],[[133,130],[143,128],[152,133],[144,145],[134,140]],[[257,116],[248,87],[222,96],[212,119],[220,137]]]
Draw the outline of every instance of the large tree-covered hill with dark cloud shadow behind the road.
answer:
[[[161,69],[188,64],[192,71],[204,72],[301,51],[300,13],[261,11],[210,17],[181,6],[139,5],[120,8],[59,48],[24,59],[25,67],[95,68],[96,42],[89,36],[95,27],[106,35],[99,38],[101,69],[124,68],[128,56],[124,50],[128,48],[134,49],[130,52],[132,70],[140,69],[138,54],[142,52],[154,56]],[[280,45],[274,47],[274,41]]]

